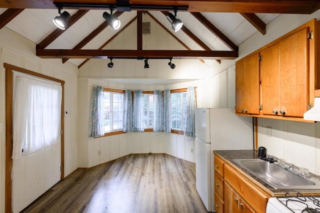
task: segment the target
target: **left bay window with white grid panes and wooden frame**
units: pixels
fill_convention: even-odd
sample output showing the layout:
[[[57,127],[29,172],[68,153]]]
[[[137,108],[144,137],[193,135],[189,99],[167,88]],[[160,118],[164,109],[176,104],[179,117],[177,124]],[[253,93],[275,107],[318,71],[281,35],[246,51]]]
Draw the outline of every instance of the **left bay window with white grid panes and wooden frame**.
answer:
[[[103,91],[104,133],[123,130],[124,93],[122,90]]]

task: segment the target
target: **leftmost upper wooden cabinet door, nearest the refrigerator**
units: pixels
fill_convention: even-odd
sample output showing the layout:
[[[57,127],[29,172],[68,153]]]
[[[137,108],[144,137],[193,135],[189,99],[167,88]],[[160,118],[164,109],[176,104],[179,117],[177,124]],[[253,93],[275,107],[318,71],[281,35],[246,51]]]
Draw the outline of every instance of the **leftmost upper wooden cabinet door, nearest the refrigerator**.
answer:
[[[235,112],[259,114],[259,53],[235,63]]]

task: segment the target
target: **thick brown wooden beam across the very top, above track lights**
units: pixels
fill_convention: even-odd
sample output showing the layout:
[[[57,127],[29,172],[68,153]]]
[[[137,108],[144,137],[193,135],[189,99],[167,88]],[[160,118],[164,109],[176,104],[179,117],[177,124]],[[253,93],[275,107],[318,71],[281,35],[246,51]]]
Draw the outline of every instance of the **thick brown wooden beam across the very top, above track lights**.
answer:
[[[53,0],[54,3],[116,4],[116,0]],[[1,8],[56,8],[52,0],[2,0]],[[245,12],[311,14],[320,8],[319,0],[130,0],[137,5],[188,6],[189,12]],[[66,7],[64,7],[66,8]],[[80,9],[80,7],[72,7]],[[93,7],[85,7],[93,9]],[[81,7],[84,9],[84,7]],[[102,8],[101,8],[102,9]],[[145,10],[145,9],[144,9]]]

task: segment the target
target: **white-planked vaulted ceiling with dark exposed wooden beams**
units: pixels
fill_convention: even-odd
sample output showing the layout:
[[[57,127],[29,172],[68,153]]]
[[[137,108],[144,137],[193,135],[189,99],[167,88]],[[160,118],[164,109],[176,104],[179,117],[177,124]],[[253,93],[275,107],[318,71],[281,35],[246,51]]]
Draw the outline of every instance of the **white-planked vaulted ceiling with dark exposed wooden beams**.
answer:
[[[65,30],[52,23],[58,5],[71,14]],[[109,7],[121,20],[118,30],[102,18]],[[183,22],[178,32],[166,19],[173,8],[178,8],[177,18]],[[61,58],[62,63],[70,61],[78,67],[90,58],[106,57],[197,58],[219,63],[236,58],[238,45],[256,32],[265,34],[266,25],[280,13],[310,14],[319,8],[318,0],[6,0],[0,2],[0,28],[5,26],[36,43],[37,56]],[[144,49],[145,19],[163,27],[185,50]],[[136,48],[105,48],[132,25]]]

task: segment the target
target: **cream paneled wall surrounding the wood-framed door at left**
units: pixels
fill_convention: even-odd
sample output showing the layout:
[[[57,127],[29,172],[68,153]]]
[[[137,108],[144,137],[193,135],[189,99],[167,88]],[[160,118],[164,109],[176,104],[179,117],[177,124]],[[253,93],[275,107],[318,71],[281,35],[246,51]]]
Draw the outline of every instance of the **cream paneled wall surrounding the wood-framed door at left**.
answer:
[[[35,56],[35,44],[6,27],[0,29],[0,212],[4,212],[4,173],[5,173],[5,69],[3,63],[12,64],[34,72],[65,81],[64,107],[64,175],[74,171],[78,164],[77,152],[77,80],[78,69],[61,60],[43,60]]]

